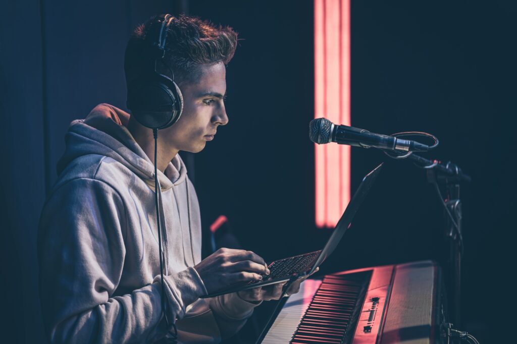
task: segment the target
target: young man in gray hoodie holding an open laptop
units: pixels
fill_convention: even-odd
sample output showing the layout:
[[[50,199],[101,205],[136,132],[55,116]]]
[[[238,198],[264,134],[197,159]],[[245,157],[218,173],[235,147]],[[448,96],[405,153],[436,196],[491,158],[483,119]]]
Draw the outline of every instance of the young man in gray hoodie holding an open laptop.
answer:
[[[150,21],[128,43],[126,79],[138,77]],[[236,333],[262,300],[280,298],[281,284],[212,299],[200,296],[268,273],[249,251],[220,249],[201,260],[197,197],[178,151],[201,151],[228,122],[225,65],[237,34],[179,17],[166,33],[158,70],[184,98],[179,120],[158,135],[163,228],[161,292],[154,190],[154,138],[128,113],[100,104],[71,123],[59,178],[41,214],[40,296],[52,343],[158,342],[177,326],[179,342],[213,342]],[[174,73],[174,75],[172,75]],[[297,292],[301,280],[288,294]]]

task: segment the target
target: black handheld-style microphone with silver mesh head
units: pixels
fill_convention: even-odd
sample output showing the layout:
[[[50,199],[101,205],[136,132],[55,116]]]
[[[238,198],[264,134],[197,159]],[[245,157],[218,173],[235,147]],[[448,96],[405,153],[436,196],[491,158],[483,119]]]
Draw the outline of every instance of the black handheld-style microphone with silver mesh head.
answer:
[[[413,140],[374,134],[368,130],[354,127],[337,126],[326,118],[316,118],[309,123],[309,137],[318,145],[336,142],[340,145],[405,152],[427,152],[429,150],[429,146]]]

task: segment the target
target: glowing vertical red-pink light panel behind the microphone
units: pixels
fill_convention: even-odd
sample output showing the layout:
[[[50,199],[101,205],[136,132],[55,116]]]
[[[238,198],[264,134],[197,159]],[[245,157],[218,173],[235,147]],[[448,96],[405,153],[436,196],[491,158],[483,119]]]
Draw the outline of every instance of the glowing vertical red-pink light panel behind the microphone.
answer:
[[[314,0],[315,118],[350,124],[349,0]],[[350,198],[350,147],[315,145],[316,226],[334,227]]]

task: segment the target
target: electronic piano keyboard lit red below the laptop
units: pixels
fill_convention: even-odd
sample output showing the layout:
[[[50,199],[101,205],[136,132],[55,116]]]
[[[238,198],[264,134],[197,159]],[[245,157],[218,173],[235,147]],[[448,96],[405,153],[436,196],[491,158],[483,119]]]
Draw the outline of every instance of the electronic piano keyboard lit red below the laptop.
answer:
[[[284,299],[262,343],[439,342],[440,275],[431,261],[308,279]]]

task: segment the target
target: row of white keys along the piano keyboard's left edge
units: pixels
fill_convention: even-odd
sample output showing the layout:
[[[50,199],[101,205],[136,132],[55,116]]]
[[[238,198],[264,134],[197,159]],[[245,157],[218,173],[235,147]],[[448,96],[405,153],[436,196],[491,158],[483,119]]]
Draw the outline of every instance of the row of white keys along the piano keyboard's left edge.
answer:
[[[267,332],[262,341],[264,344],[285,344],[291,340],[321,284],[320,279],[307,279],[300,285],[300,291],[289,297]]]

